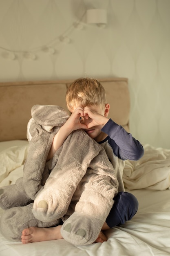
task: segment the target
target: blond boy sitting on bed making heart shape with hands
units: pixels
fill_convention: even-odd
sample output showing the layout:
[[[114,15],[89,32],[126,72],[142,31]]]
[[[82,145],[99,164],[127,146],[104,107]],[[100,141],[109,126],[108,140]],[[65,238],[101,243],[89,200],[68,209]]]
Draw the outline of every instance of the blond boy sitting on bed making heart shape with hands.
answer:
[[[95,79],[77,79],[66,92],[66,104],[72,113],[66,123],[54,137],[47,160],[63,144],[68,135],[77,129],[86,133],[101,144],[113,164],[119,182],[118,194],[102,230],[124,224],[130,220],[138,209],[137,199],[124,192],[122,180],[124,160],[138,160],[144,154],[143,146],[132,135],[108,118],[110,105],[106,103],[106,93],[99,81]],[[51,228],[30,227],[22,231],[22,243],[61,239],[62,225]],[[96,242],[106,241],[100,232]]]

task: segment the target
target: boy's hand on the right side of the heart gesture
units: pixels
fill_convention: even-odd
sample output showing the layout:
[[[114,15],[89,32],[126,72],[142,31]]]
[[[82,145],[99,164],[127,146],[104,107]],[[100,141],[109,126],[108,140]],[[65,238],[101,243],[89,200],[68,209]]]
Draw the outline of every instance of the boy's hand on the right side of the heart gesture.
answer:
[[[104,115],[99,114],[98,112],[92,110],[89,107],[84,108],[84,118],[91,119],[91,121],[87,124],[88,129],[93,126],[104,126],[109,120]]]

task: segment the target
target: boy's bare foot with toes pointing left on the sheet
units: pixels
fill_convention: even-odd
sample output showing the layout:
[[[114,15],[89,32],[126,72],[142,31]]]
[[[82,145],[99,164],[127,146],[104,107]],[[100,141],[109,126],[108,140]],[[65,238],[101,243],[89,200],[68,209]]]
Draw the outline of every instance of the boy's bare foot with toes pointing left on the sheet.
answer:
[[[21,242],[23,244],[62,239],[60,233],[62,225],[49,228],[30,227],[22,231]]]

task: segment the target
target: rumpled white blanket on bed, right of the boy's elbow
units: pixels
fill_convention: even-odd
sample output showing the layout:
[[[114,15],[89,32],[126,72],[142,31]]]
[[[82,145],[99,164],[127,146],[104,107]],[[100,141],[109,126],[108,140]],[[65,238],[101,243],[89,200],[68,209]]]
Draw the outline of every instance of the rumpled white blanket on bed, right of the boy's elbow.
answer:
[[[138,161],[126,160],[123,180],[127,189],[170,189],[170,150],[144,146]]]

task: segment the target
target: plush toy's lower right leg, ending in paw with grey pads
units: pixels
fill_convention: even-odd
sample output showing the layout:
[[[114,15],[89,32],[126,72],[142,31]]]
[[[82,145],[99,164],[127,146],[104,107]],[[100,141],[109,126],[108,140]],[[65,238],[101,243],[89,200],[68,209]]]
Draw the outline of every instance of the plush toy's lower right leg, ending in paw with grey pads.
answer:
[[[91,164],[93,169],[95,160]],[[87,170],[83,178],[84,185],[81,184],[84,191],[75,206],[75,212],[62,225],[63,238],[74,245],[95,242],[113,206],[117,179],[109,165],[103,168],[108,168],[108,171],[101,169],[98,173],[91,173],[91,168]]]

